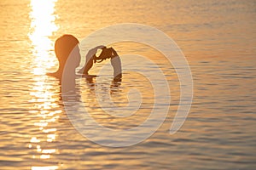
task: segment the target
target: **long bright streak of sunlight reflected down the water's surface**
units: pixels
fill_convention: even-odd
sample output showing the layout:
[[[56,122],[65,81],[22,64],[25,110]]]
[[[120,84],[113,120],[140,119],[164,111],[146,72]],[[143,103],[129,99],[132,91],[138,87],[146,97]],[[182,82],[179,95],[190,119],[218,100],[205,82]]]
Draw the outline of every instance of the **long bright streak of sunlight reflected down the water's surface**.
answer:
[[[54,41],[50,38],[58,26],[55,25],[55,2],[56,0],[38,1],[31,0],[32,11],[31,33],[28,35],[32,42],[33,55],[33,86],[31,87],[31,100],[33,108],[30,113],[38,117],[34,126],[38,128],[38,136],[32,136],[28,148],[36,150],[38,154],[32,155],[33,159],[47,160],[57,152],[51,148],[51,142],[57,137],[57,128],[50,127],[59,118],[61,109],[57,105],[58,97],[53,92],[53,84],[47,82],[45,72],[55,66]],[[32,167],[32,169],[57,169],[57,166]]]

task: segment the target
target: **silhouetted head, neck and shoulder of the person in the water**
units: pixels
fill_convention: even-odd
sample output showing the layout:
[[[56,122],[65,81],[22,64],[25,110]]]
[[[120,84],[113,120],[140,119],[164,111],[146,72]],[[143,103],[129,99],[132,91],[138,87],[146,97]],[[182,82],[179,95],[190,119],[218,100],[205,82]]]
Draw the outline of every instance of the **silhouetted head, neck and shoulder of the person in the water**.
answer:
[[[80,63],[79,40],[72,35],[63,35],[55,41],[55,55],[59,61],[57,71],[47,73],[48,76],[62,79],[64,69],[66,76],[75,76],[75,69]],[[68,65],[66,65],[68,62]],[[68,68],[65,68],[68,67]]]

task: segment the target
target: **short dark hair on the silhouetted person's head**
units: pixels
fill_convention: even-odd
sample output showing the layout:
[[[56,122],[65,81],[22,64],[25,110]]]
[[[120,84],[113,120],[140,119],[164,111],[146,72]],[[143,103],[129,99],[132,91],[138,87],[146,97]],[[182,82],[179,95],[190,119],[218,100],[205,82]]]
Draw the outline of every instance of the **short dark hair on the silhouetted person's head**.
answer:
[[[55,54],[61,64],[65,64],[73,48],[79,44],[79,40],[72,35],[65,34],[55,41]]]

